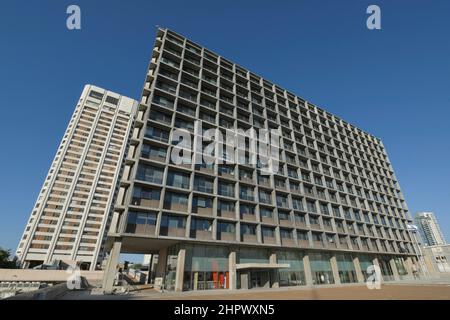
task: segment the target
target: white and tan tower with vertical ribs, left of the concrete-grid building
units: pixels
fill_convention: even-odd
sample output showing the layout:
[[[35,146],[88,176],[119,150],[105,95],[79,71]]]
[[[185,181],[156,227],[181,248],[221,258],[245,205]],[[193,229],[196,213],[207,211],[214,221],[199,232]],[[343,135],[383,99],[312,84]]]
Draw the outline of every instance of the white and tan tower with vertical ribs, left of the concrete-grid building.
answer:
[[[138,102],[86,85],[17,249],[23,267],[55,260],[94,270]]]

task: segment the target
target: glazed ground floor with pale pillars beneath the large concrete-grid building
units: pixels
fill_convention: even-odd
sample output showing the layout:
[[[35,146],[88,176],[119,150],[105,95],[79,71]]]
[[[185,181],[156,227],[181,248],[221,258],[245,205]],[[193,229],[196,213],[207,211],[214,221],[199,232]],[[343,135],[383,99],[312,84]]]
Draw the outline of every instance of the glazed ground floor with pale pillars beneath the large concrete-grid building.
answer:
[[[363,283],[374,265],[383,281],[393,281],[411,276],[416,263],[407,256],[196,243],[173,245],[159,256],[164,288],[175,291]]]

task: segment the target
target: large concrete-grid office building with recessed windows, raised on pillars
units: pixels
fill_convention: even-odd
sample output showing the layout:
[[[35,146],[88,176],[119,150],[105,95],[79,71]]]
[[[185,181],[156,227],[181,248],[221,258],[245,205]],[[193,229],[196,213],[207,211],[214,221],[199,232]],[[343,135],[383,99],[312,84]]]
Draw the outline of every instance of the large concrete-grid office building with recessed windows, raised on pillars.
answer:
[[[250,164],[247,143],[223,152],[225,164],[198,161],[211,154],[207,129],[250,128],[279,134],[278,171]],[[190,163],[172,157],[180,131]],[[125,163],[105,292],[121,252],[158,255],[157,282],[176,291],[363,282],[373,264],[386,281],[410,276],[411,218],[383,143],[167,29]]]

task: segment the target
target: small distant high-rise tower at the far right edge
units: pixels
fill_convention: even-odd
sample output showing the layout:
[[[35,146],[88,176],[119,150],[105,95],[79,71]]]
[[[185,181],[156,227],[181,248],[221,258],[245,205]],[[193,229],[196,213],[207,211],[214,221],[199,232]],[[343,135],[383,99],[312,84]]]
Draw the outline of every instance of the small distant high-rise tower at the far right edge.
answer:
[[[445,244],[445,238],[433,212],[418,212],[415,222],[419,228],[423,245],[435,246]]]

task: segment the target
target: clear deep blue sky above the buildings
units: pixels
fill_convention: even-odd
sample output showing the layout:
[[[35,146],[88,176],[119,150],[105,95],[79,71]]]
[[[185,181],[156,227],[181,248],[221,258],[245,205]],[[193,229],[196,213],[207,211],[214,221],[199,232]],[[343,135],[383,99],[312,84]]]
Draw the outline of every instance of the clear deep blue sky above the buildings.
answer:
[[[450,240],[449,14],[448,0],[3,0],[0,246],[15,250],[83,85],[139,98],[155,25],[380,137],[411,212],[434,211]]]

